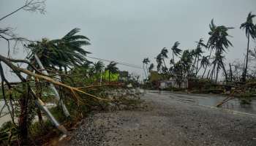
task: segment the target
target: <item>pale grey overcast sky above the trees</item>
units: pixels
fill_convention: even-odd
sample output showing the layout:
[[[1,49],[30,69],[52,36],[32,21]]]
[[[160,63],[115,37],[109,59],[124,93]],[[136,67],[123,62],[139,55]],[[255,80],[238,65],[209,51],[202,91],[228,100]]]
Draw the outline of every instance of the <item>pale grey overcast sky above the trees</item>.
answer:
[[[0,17],[22,4],[22,0],[1,0]],[[91,39],[86,48],[91,56],[140,66],[143,58],[153,61],[162,47],[170,48],[176,41],[182,50],[194,49],[200,38],[207,41],[212,18],[217,25],[235,27],[229,31],[234,47],[225,62],[241,59],[246,37],[239,26],[249,12],[256,14],[255,0],[48,0],[45,4],[45,15],[20,11],[2,20],[0,27],[16,28],[16,34],[33,40],[57,39],[80,28],[80,34]],[[0,47],[0,53],[6,54],[2,40]],[[15,58],[24,58],[22,49]],[[141,69],[118,67],[143,75]]]

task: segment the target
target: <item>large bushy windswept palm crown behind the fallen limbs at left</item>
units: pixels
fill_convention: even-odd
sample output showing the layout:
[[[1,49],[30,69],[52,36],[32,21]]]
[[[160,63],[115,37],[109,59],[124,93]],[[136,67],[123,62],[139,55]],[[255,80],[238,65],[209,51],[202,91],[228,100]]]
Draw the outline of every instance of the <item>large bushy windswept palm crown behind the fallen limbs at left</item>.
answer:
[[[79,28],[74,28],[61,39],[42,39],[41,42],[28,45],[31,49],[31,60],[33,55],[37,54],[42,61],[42,65],[46,68],[56,66],[67,67],[82,65],[86,61],[88,51],[83,49],[83,46],[90,45],[89,38],[83,35],[76,35],[80,31]]]

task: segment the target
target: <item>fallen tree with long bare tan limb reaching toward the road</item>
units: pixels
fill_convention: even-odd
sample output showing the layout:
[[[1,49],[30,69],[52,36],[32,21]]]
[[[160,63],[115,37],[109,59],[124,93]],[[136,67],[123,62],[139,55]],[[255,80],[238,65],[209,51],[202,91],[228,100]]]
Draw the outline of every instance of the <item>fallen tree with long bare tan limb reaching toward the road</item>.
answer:
[[[58,128],[62,133],[67,134],[67,129],[64,126],[62,126],[58,122],[58,120],[54,118],[50,110],[48,110],[48,108],[45,107],[45,103],[38,96],[39,93],[37,93],[37,91],[34,91],[34,89],[31,87],[31,82],[39,82],[39,80],[41,80],[42,82],[47,82],[59,88],[63,88],[65,93],[68,93],[70,97],[72,97],[72,101],[75,101],[75,103],[78,104],[78,106],[86,105],[89,107],[91,106],[102,107],[103,104],[108,105],[108,103],[113,103],[117,107],[117,109],[120,109],[121,105],[129,105],[128,107],[130,107],[130,106],[135,106],[136,104],[137,99],[131,99],[131,98],[127,99],[128,94],[129,96],[132,95],[131,93],[128,93],[128,91],[119,90],[119,91],[114,91],[116,93],[108,92],[109,88],[113,88],[113,87],[124,88],[123,84],[108,83],[104,85],[88,85],[85,87],[72,87],[70,85],[65,84],[64,82],[59,82],[57,80],[54,80],[53,77],[51,77],[50,75],[42,74],[38,69],[36,69],[35,66],[33,66],[33,64],[30,64],[26,60],[15,60],[15,59],[6,58],[3,55],[0,55],[0,61],[1,61],[1,64],[7,65],[12,70],[12,72],[14,72],[15,75],[20,79],[20,82],[16,84],[16,88],[17,86],[20,85],[20,87],[23,89],[20,91],[23,96],[20,96],[20,99],[19,99],[20,100],[20,116],[19,116],[20,118],[18,120],[19,121],[18,127],[23,128],[24,131],[21,131],[23,135],[20,136],[20,139],[28,139],[28,136],[26,136],[28,134],[28,128],[29,128],[28,124],[31,124],[31,123],[27,123],[28,122],[27,117],[28,117],[29,111],[31,111],[30,109],[31,107],[29,107],[29,104],[33,104],[33,103],[40,110],[42,110],[42,112],[44,112],[47,115],[48,119],[51,121],[51,123],[53,123],[56,126],[56,128]],[[34,69],[34,72],[28,69],[20,68],[19,66],[15,65],[15,63],[20,63],[20,62],[26,63],[29,66],[31,66],[31,68]],[[2,81],[2,87],[3,87],[2,92],[4,95],[4,99],[7,99],[7,96],[5,95],[4,91],[8,91],[8,92],[10,91],[11,93],[11,90],[14,90],[15,86],[12,85],[10,82],[8,82],[8,80],[5,78],[4,72],[2,71],[1,64],[0,64],[0,69],[1,69],[0,73],[1,73],[1,78],[2,78],[1,81]],[[29,77],[25,78],[24,74],[26,74],[26,76],[29,76],[30,78]],[[35,80],[34,81],[31,80],[31,77],[33,77]],[[7,88],[4,88],[4,87],[7,87]],[[104,88],[104,90],[102,90],[102,88]],[[23,93],[24,91],[25,93]],[[91,91],[94,91],[94,93],[95,91],[97,91],[97,94],[99,96],[95,96],[93,93],[90,93]],[[127,95],[121,95],[120,93],[127,93]],[[100,96],[104,96],[104,98]],[[90,104],[91,101],[94,101],[94,103]],[[101,102],[102,104],[100,104]],[[12,103],[12,101],[10,101],[10,103]],[[103,106],[102,108],[105,108],[105,107]],[[10,112],[11,111],[14,111],[14,110],[12,109],[10,110]],[[38,117],[40,116],[38,115]],[[15,123],[14,120],[15,119],[12,118],[13,123]],[[13,134],[14,133],[12,133],[11,135]],[[20,135],[21,133],[15,133],[15,134]]]

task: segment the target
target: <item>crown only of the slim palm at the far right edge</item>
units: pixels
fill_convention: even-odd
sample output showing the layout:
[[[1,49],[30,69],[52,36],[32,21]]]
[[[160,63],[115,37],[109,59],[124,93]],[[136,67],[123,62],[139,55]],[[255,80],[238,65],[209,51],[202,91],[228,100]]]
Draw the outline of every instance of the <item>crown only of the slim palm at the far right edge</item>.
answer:
[[[255,18],[256,15],[252,15],[252,12],[249,12],[246,22],[242,23],[240,28],[245,29],[245,34],[247,37],[251,36],[252,39],[256,38],[256,25],[254,25],[252,18]]]

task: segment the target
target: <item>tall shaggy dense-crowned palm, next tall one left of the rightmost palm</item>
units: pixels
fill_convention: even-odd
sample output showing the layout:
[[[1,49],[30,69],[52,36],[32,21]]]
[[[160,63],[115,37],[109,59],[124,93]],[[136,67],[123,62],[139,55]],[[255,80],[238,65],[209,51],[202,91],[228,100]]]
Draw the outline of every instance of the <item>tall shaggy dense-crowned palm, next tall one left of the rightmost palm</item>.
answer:
[[[227,39],[227,37],[230,37],[229,34],[227,34],[227,31],[230,28],[226,26],[215,26],[213,19],[211,20],[211,24],[209,26],[211,31],[208,33],[210,35],[208,39],[208,47],[215,50],[215,59],[213,61],[214,68],[211,72],[211,78],[213,77],[215,70],[217,71],[218,75],[219,69],[222,68],[223,72],[225,73],[225,79],[228,80],[225,65],[223,64],[224,56],[222,54],[226,52],[227,47],[232,46],[231,42]],[[215,69],[216,67],[217,69]]]

